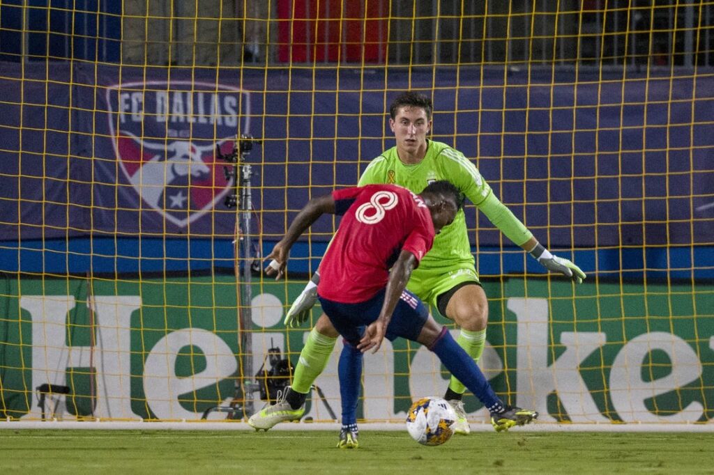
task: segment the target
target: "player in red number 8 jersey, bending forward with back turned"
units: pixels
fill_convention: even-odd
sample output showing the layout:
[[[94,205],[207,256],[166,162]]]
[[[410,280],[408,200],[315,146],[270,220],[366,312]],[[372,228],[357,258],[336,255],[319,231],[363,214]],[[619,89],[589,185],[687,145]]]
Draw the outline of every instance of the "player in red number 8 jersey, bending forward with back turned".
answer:
[[[343,215],[336,236],[323,257],[318,298],[331,325],[353,352],[376,352],[384,337],[404,337],[433,351],[442,364],[466,384],[491,412],[523,425],[538,413],[506,406],[493,392],[473,359],[445,327],[429,315],[423,302],[406,290],[406,283],[441,228],[449,225],[463,205],[458,189],[445,180],[416,195],[396,185],[366,185],[336,190],[313,198],[296,216],[288,232],[267,256],[274,262],[266,273],[282,277],[288,253],[298,237],[323,213]],[[361,363],[361,358],[355,359]],[[339,447],[358,446],[356,406],[361,364],[341,377],[343,398]],[[289,387],[278,402],[253,414],[248,424],[269,429],[277,422],[300,419],[306,394]]]

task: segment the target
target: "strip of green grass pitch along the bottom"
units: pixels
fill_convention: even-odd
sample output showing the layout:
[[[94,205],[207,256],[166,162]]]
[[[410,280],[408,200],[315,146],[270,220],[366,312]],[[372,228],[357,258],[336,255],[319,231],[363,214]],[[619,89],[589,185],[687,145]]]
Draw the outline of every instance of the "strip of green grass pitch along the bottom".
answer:
[[[714,433],[475,432],[426,447],[406,431],[0,431],[0,473],[713,474]]]

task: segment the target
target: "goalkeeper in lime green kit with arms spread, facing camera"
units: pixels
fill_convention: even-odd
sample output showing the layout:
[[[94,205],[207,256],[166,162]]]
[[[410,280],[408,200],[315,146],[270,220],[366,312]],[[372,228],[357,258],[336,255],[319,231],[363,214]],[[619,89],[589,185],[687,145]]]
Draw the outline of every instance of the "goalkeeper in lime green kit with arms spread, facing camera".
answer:
[[[448,180],[508,239],[530,252],[546,269],[560,272],[575,282],[583,282],[585,273],[573,262],[552,255],[540,245],[526,226],[498,200],[486,180],[478,173],[476,166],[463,153],[445,143],[427,138],[431,131],[432,111],[431,99],[421,93],[406,91],[398,96],[391,105],[389,121],[396,138],[396,146],[371,161],[358,185],[390,183],[401,185],[414,193],[421,193],[426,185],[435,180]],[[309,318],[310,309],[317,298],[318,281],[319,271],[293,302],[286,315],[286,325],[296,327]],[[432,249],[413,270],[407,288],[461,327],[457,342],[478,362],[486,341],[488,302],[471,255],[463,210],[458,211],[451,225],[436,235]],[[253,414],[248,421],[251,426],[267,430],[278,422],[302,417],[303,403],[311,384],[326,367],[337,336],[331,325],[328,325],[326,315],[322,315],[303,347],[291,387],[286,389],[286,394],[283,394],[277,404]],[[341,354],[341,379],[343,373],[361,373],[361,354],[351,352],[351,348],[346,345]],[[461,434],[471,431],[461,400],[465,389],[458,379],[451,377],[444,395],[444,399],[450,402],[456,411],[458,422],[454,429]],[[356,400],[345,401],[343,398],[343,413],[353,410],[356,403]],[[523,423],[530,422],[536,416],[537,414],[524,414]],[[507,430],[513,425],[512,421],[491,422],[499,431]],[[343,427],[343,433],[346,433],[348,441],[353,439],[356,444],[356,427]]]

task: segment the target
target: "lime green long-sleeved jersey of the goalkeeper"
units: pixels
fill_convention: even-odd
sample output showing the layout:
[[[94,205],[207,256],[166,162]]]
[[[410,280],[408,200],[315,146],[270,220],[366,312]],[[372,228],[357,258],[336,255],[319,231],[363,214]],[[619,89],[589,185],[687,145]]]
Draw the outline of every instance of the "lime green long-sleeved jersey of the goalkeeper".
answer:
[[[493,194],[486,180],[478,173],[463,153],[446,143],[428,141],[426,156],[416,165],[406,165],[399,160],[397,148],[386,150],[371,161],[359,180],[358,186],[374,183],[401,185],[414,193],[421,193],[435,180],[448,180],[481,210],[493,225],[517,245],[531,239],[531,232]],[[423,257],[419,269],[435,267],[473,267],[473,255],[468,241],[466,218],[459,210],[451,225],[436,235],[434,245]]]

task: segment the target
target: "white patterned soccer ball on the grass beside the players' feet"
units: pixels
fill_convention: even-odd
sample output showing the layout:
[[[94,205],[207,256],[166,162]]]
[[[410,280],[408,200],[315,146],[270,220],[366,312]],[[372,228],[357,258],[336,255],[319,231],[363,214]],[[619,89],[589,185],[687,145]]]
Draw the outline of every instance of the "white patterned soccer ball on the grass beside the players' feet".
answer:
[[[411,438],[423,445],[441,445],[451,439],[456,422],[456,412],[453,412],[446,399],[441,397],[424,397],[414,402],[406,417],[406,429]]]

